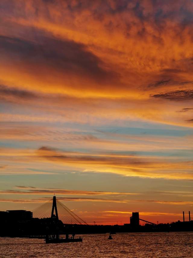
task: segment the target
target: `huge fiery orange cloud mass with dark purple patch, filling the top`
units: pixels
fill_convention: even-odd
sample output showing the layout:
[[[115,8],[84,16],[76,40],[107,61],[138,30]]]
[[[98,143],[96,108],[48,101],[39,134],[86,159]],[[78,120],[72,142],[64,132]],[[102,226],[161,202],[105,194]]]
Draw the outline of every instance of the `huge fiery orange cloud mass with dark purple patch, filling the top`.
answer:
[[[84,7],[26,1],[25,18],[18,15],[21,2],[13,2],[14,15],[2,2],[5,85],[82,98],[126,95],[135,100],[147,100],[168,87],[170,92],[191,88],[192,24],[184,24],[190,0],[178,5],[173,1],[173,15],[163,1],[153,6],[151,1],[85,1]],[[14,62],[13,55],[18,56]]]

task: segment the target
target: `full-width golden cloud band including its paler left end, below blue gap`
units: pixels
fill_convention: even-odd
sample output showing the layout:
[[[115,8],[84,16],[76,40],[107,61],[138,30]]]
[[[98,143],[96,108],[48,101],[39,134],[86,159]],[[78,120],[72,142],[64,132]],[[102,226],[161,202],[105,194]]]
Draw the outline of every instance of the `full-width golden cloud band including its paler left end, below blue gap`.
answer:
[[[144,147],[144,146],[143,146]],[[44,171],[43,164],[55,164],[55,168],[75,169],[81,172],[115,173],[124,176],[147,178],[192,179],[191,160],[176,157],[152,157],[140,155],[122,155],[104,152],[93,154],[86,152],[65,152],[50,147],[33,149],[3,148],[0,160],[11,164],[0,170],[1,174],[55,174],[58,172]],[[35,164],[38,165],[38,169]],[[26,168],[31,164],[31,169]],[[29,166],[29,165],[28,165]]]

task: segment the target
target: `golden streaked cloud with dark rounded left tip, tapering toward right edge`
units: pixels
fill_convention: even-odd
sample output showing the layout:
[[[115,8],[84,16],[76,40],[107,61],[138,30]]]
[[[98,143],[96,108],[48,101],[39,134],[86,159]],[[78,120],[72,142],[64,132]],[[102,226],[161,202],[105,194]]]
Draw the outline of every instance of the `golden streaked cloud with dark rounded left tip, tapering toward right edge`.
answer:
[[[61,153],[55,149],[41,147],[37,151],[38,155],[50,162],[59,162],[70,166],[78,166],[86,171],[118,173],[127,176],[140,176],[150,178],[173,178],[173,179],[192,179],[192,162],[164,162],[153,160],[152,158],[128,156],[108,156],[108,155],[86,155],[77,153]],[[87,164],[87,168],[85,168]],[[184,170],[188,170],[185,172]],[[160,166],[162,169],[160,170]],[[89,168],[90,167],[90,168]],[[168,173],[167,171],[170,171]],[[178,172],[177,172],[177,171]],[[166,171],[166,172],[165,172]],[[173,172],[172,172],[173,171]],[[182,172],[181,172],[182,171]]]

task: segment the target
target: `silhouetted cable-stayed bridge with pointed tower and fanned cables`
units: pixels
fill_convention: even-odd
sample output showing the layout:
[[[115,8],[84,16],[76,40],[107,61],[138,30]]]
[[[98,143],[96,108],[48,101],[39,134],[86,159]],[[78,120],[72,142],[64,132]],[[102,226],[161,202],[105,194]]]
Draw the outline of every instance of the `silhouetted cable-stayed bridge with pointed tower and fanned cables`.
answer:
[[[86,224],[78,215],[68,209],[62,202],[58,201],[55,196],[46,203],[40,205],[33,211],[34,218],[52,218],[62,220],[64,224]]]

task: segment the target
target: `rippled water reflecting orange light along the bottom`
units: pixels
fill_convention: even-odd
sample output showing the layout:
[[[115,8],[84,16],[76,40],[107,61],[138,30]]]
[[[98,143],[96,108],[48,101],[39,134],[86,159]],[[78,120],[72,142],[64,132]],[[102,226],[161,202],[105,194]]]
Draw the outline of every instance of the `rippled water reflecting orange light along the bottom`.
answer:
[[[193,232],[126,233],[112,235],[112,240],[107,234],[81,237],[82,243],[59,244],[45,244],[43,239],[0,238],[0,257],[193,258]]]

